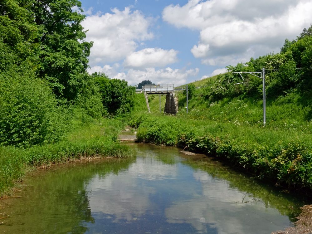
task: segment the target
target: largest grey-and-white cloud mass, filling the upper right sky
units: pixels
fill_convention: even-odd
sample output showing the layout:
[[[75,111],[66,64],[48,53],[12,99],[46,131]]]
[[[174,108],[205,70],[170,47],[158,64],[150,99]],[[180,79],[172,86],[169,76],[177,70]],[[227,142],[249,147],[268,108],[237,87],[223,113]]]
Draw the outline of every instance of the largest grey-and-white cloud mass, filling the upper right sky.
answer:
[[[311,11],[310,0],[189,0],[165,7],[163,20],[200,32],[191,52],[203,64],[229,65],[279,52],[285,38],[310,26]]]

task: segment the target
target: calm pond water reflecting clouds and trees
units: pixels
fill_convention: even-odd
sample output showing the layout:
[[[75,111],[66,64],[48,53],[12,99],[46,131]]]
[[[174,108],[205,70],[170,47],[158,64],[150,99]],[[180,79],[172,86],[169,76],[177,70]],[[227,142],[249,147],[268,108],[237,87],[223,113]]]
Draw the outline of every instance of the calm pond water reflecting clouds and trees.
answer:
[[[135,157],[56,166],[0,201],[2,233],[271,233],[300,200],[205,155],[129,144]]]

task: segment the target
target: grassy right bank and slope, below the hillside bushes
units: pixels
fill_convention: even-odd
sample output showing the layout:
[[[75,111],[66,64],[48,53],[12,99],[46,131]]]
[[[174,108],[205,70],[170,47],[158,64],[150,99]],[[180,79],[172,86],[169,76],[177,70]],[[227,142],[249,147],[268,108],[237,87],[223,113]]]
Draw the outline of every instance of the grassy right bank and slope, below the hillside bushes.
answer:
[[[312,124],[310,99],[290,92],[267,99],[267,125],[263,127],[259,97],[224,97],[209,100],[206,87],[189,100],[176,93],[176,116],[159,114],[159,96],[149,97],[151,113],[135,112],[130,124],[141,142],[179,145],[181,148],[222,158],[255,177],[292,188],[312,188]],[[201,81],[203,82],[203,81]],[[152,95],[151,95],[152,96]],[[137,94],[137,110],[145,110],[143,94]],[[164,98],[162,105],[164,105]],[[162,106],[163,112],[163,106]]]

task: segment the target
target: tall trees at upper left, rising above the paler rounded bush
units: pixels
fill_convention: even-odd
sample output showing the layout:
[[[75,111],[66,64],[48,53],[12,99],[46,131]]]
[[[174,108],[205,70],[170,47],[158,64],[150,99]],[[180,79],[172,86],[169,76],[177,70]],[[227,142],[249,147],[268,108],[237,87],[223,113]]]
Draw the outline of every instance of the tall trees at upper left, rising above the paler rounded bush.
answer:
[[[0,3],[0,71],[27,65],[47,80],[60,98],[74,100],[80,74],[88,67],[92,43],[80,25],[85,18],[77,0],[5,0]],[[25,67],[24,67],[25,68]]]

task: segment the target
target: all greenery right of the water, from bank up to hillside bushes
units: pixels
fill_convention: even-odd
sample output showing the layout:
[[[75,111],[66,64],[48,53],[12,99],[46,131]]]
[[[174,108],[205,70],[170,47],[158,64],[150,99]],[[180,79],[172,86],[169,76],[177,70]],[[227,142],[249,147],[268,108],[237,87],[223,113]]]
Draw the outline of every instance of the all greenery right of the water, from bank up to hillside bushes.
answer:
[[[176,93],[177,116],[137,113],[130,123],[140,141],[179,145],[185,150],[224,159],[233,167],[272,184],[312,188],[312,26],[294,41],[285,40],[278,54],[227,66],[222,75],[193,83],[186,113],[186,92]],[[233,72],[266,68],[266,127],[263,127],[262,80]],[[193,86],[202,86],[193,89]],[[143,96],[137,95],[144,105]],[[162,104],[163,105],[163,104]],[[154,108],[155,106],[156,108]],[[143,108],[143,107],[142,107]]]

